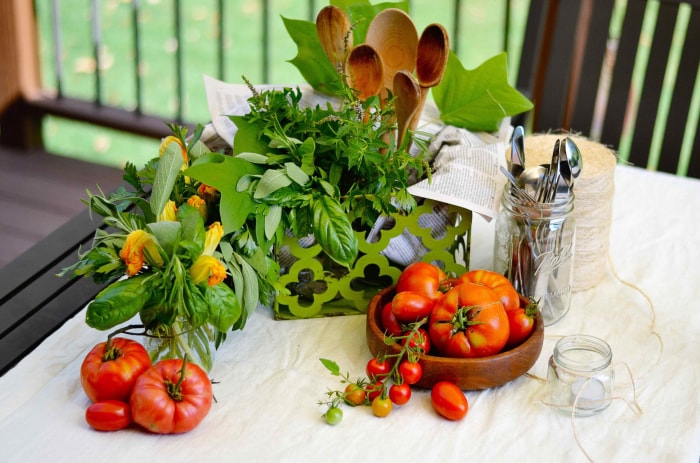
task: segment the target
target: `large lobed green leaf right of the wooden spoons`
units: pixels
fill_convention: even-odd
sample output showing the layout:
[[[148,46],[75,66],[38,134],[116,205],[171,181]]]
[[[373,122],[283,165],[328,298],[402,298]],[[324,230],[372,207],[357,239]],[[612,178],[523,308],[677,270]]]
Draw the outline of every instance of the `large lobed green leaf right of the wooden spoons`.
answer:
[[[451,52],[433,97],[443,122],[476,132],[494,132],[504,117],[532,109],[532,102],[508,83],[505,53],[469,71]]]

